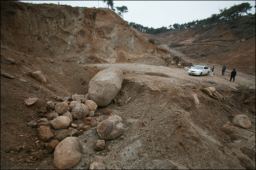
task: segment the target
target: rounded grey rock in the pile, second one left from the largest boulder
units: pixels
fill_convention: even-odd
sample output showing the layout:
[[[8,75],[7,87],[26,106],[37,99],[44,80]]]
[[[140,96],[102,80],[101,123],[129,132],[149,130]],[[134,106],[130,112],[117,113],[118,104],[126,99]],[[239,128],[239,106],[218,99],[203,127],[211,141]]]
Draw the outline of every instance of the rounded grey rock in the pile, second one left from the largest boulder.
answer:
[[[81,120],[89,114],[88,107],[83,103],[77,103],[71,111],[73,119]]]

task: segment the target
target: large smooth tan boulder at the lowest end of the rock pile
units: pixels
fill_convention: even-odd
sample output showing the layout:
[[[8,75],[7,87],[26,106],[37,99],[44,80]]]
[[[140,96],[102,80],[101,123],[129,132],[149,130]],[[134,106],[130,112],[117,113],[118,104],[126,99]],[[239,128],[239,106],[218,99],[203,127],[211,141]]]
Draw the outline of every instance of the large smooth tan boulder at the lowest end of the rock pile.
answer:
[[[82,157],[83,145],[76,137],[63,139],[54,150],[54,166],[59,170],[70,169]]]

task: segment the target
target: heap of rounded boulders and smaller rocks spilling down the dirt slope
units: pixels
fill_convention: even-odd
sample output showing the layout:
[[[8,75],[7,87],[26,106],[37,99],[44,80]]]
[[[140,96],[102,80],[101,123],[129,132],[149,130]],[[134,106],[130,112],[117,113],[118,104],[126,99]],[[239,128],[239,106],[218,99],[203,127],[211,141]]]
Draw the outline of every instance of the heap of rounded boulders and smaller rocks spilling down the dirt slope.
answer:
[[[38,121],[31,121],[28,126],[37,127],[39,139],[43,142],[37,145],[41,151],[36,152],[40,158],[44,154],[54,151],[54,166],[58,169],[69,169],[74,167],[83,152],[83,145],[76,137],[83,135],[84,131],[96,126],[96,131],[101,140],[95,141],[94,149],[104,149],[105,140],[119,137],[124,127],[122,119],[112,114],[108,109],[104,115],[96,113],[98,106],[105,107],[113,101],[121,89],[123,73],[119,68],[110,68],[100,71],[89,82],[88,94],[74,94],[72,98],[62,99],[55,97],[55,101],[47,101],[41,104]],[[38,103],[39,99],[29,98],[24,102],[28,107]],[[81,120],[81,124],[74,124],[73,120]],[[56,133],[52,132],[57,130]],[[100,158],[91,161],[91,169],[104,168]],[[104,168],[105,169],[105,168]]]

